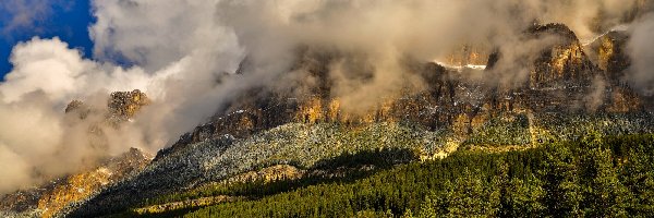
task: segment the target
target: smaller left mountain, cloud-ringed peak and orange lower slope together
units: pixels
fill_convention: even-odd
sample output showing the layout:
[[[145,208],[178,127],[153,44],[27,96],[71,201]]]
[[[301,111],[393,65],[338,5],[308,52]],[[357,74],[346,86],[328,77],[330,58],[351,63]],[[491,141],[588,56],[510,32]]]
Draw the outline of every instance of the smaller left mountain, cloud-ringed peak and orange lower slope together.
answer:
[[[122,122],[132,119],[148,104],[149,99],[141,90],[114,92],[110,95],[106,108],[92,108],[81,100],[73,100],[66,106],[64,112],[66,116],[72,114],[74,120],[86,120],[89,116],[104,117],[100,122],[89,128],[87,140],[89,146],[105,149],[106,136],[99,126],[119,128]],[[137,148],[130,148],[114,157],[101,157],[98,161],[89,161],[90,166],[80,172],[56,178],[37,187],[1,196],[0,216],[57,216],[69,205],[92,197],[106,186],[141,171],[152,159],[148,154]]]

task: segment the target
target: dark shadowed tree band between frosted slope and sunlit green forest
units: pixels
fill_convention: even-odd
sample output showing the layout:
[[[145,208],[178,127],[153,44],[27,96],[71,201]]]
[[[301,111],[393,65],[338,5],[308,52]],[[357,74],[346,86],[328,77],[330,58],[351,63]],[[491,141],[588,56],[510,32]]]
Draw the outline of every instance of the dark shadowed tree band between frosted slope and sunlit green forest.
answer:
[[[399,164],[408,164],[417,160],[420,157],[416,150],[395,147],[363,150],[356,154],[343,153],[332,158],[319,160],[312,168],[306,169],[311,172],[319,171],[320,173],[307,174],[300,179],[282,179],[270,182],[255,180],[209,184],[191,191],[171,193],[155,198],[148,198],[138,204],[137,207],[161,205],[218,195],[261,198],[267,195],[288,192],[314,184],[354,182],[355,180],[368,177],[376,171],[389,169]],[[293,166],[300,165],[295,164]],[[259,166],[257,169],[263,169],[265,167],[271,167],[271,165]]]

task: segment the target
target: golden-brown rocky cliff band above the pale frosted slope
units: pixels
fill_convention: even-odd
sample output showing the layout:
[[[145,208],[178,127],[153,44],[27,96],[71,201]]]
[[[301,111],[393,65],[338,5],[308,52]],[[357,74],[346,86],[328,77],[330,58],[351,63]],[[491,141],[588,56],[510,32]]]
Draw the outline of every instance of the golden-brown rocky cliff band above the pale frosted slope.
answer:
[[[420,77],[424,86],[403,87],[395,95],[373,99],[372,107],[359,111],[348,110],[342,99],[335,95],[336,81],[330,72],[336,62],[356,60],[358,57],[315,48],[298,49],[291,71],[300,72],[299,77],[303,81],[288,81],[284,84],[293,85],[282,89],[254,88],[241,94],[210,122],[183,135],[158,156],[219,136],[247,137],[288,122],[352,126],[408,122],[429,130],[452,130],[465,137],[488,119],[504,112],[629,112],[642,109],[638,95],[613,82],[619,77],[618,71],[629,64],[622,56],[625,44],[622,39],[615,39],[617,35],[603,37],[602,40],[608,41],[597,47],[597,52],[590,52],[592,55],[588,55],[588,46],[584,47],[564,24],[535,24],[524,37],[546,43],[542,50],[532,53],[535,58],[524,58],[532,62],[526,65],[530,73],[521,85],[497,83],[495,77],[504,72],[493,69],[501,59],[501,48],[491,52],[488,46],[471,44],[453,51],[445,62],[407,59],[404,73]],[[593,60],[597,56],[601,60]],[[247,64],[243,61],[238,72],[247,73]],[[457,65],[461,68],[455,68]],[[354,65],[352,69],[365,68]],[[364,72],[353,76],[360,76],[365,83],[370,80],[366,76],[372,74]]]

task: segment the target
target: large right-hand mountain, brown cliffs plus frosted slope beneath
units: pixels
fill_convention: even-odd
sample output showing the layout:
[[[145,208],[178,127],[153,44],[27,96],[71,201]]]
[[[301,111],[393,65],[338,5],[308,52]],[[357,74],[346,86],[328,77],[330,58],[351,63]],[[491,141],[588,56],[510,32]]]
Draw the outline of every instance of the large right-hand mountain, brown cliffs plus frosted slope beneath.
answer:
[[[562,24],[534,25],[525,32],[526,40],[549,37],[556,40],[524,57],[529,73],[518,84],[497,80],[502,76],[502,48],[464,48],[449,61],[460,68],[408,58],[404,68],[426,87],[408,86],[364,112],[343,109],[342,99],[331,95],[328,66],[351,55],[301,48],[293,69],[316,81],[298,87],[305,92],[259,87],[242,93],[209,122],[160,150],[142,171],[70,207],[68,215],[99,216],[150,206],[161,203],[157,201],[161,196],[193,193],[243,173],[265,174],[268,167],[317,173],[325,166],[339,168],[331,160],[366,152],[386,154],[392,166],[440,159],[456,150],[524,150],[588,133],[654,131],[644,98],[619,83],[629,65],[621,50],[623,39],[607,34],[598,40],[618,37],[606,39],[613,47],[594,46],[596,41],[584,46]],[[485,64],[479,62],[479,53],[489,53]],[[486,68],[464,66],[469,64]],[[247,68],[245,59],[238,72],[247,73]],[[389,149],[404,152],[384,152]],[[362,162],[374,168],[382,161]],[[362,166],[339,169],[358,171]]]

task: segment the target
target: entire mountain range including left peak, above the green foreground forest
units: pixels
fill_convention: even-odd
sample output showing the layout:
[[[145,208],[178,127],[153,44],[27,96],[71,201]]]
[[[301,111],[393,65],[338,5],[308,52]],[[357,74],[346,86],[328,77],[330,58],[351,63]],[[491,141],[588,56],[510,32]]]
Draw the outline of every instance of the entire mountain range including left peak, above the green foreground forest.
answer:
[[[535,24],[514,47],[547,44],[511,57],[522,61],[522,74],[507,74],[504,68],[516,55],[510,47],[464,45],[445,61],[407,57],[404,77],[419,77],[424,85],[407,83],[364,110],[346,108],[334,95],[329,71],[359,55],[301,47],[291,71],[301,70],[313,83],[243,92],[152,161],[131,149],[41,187],[5,195],[0,210],[45,217],[190,211],[256,199],[262,196],[245,195],[256,185],[290,181],[283,190],[303,182],[349,181],[397,165],[432,165],[464,152],[530,153],[590,134],[652,133],[647,98],[620,82],[630,64],[628,37],[614,31],[582,44],[566,25]],[[356,61],[347,64],[366,69]],[[251,68],[246,58],[237,76]],[[365,83],[371,75],[353,76]],[[65,113],[78,120],[100,116],[95,125],[120,128],[149,101],[140,90],[117,92],[107,108],[73,100]],[[104,133],[90,132],[92,146],[101,149]]]

